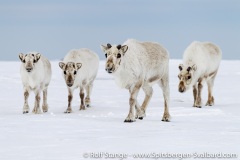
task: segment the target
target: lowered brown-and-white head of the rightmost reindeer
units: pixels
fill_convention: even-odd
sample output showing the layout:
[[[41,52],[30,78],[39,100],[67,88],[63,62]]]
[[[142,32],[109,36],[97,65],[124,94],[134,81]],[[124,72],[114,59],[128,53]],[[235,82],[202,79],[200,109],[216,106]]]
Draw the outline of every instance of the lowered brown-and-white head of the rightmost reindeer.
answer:
[[[189,89],[192,82],[193,73],[197,70],[197,66],[195,64],[191,66],[183,66],[183,64],[180,64],[178,68],[180,70],[180,73],[178,75],[178,91],[183,93]]]

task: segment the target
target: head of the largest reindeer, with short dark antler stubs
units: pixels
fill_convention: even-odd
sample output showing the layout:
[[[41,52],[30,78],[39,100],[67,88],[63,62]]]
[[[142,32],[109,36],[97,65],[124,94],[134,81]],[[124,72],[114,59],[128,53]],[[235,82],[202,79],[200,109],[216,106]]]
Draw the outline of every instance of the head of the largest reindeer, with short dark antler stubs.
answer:
[[[105,70],[108,73],[114,73],[120,66],[122,57],[127,52],[128,46],[112,46],[108,43],[107,46],[101,45],[101,49],[105,53],[105,57],[107,58]]]

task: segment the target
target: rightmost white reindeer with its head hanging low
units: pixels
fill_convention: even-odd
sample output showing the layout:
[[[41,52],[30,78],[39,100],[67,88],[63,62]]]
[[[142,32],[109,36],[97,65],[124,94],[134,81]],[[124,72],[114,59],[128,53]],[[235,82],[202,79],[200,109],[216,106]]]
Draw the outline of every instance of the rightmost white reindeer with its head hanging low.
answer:
[[[183,64],[179,65],[179,92],[193,87],[194,107],[201,107],[202,82],[208,85],[208,101],[213,105],[212,88],[217,75],[222,53],[218,46],[210,42],[192,42],[183,54]]]

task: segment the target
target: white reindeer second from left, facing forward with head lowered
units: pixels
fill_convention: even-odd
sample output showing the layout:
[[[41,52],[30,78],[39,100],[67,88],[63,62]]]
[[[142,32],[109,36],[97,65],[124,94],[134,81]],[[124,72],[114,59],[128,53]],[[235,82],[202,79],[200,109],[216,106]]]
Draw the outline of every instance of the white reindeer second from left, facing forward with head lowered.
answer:
[[[99,58],[96,53],[89,49],[71,50],[59,63],[63,70],[63,77],[68,87],[68,108],[65,113],[71,113],[71,102],[73,91],[80,88],[81,105],[80,110],[85,109],[85,105],[90,107],[90,95],[99,67]],[[85,89],[85,93],[84,93]],[[85,94],[87,95],[85,98]]]

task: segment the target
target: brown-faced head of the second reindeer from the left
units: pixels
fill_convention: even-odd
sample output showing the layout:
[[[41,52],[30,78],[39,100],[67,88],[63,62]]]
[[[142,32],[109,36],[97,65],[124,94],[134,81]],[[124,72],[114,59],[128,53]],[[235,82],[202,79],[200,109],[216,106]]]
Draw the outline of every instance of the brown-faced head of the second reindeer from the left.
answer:
[[[63,70],[63,76],[68,87],[72,87],[82,63],[68,62],[67,64],[59,62],[59,67]]]

